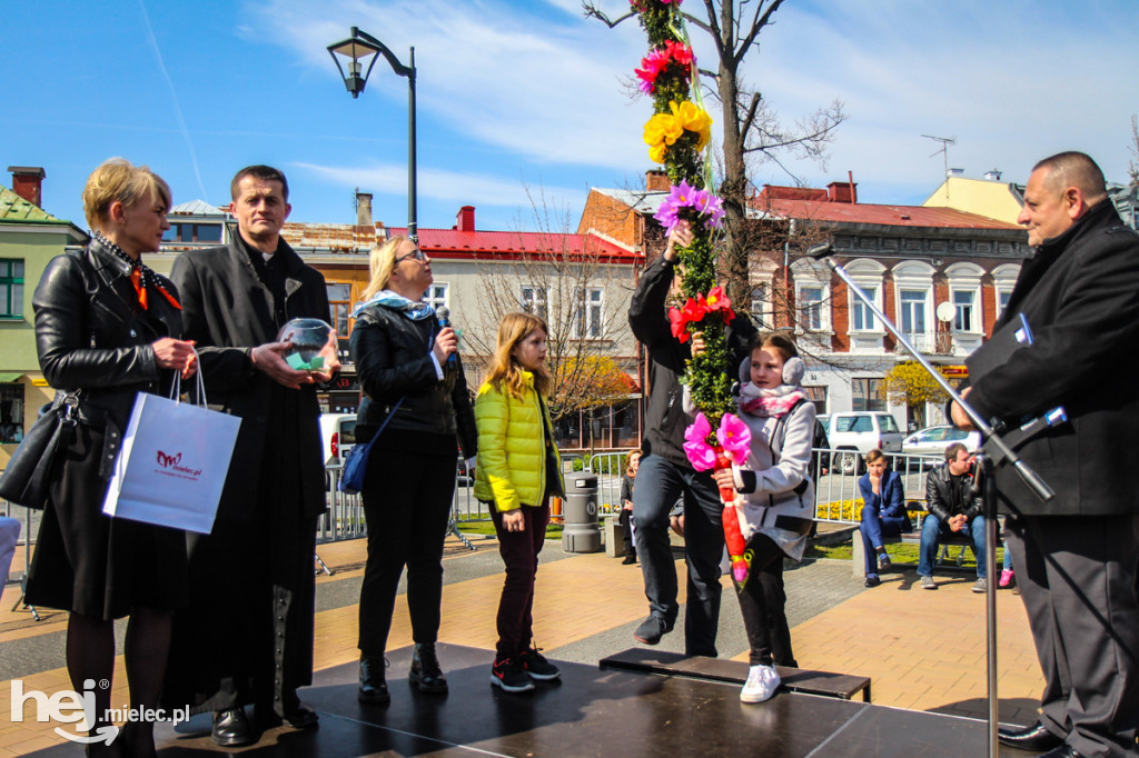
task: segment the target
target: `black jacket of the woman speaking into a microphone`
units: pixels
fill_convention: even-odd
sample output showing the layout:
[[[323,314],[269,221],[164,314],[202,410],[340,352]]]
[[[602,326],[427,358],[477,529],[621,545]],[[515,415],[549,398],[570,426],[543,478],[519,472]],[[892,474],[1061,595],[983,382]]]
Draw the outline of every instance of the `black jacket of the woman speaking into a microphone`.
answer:
[[[358,442],[370,439],[403,397],[377,446],[405,447],[410,438],[432,447],[449,444],[453,454],[458,434],[464,456],[477,453],[478,432],[462,363],[444,363],[441,380],[431,357],[439,329],[435,316],[412,321],[383,305],[369,306],[357,316],[349,347],[364,393]]]

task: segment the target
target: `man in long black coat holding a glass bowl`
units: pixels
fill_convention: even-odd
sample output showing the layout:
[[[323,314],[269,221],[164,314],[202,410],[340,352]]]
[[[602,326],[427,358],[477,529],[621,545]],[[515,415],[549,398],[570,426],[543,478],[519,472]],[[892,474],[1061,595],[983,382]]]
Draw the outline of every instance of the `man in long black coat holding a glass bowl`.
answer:
[[[338,368],[294,370],[277,341],[293,319],[329,321],[323,277],[280,238],[292,209],[285,175],[249,166],[231,190],[238,233],[180,256],[171,272],[210,405],[241,418],[213,533],[190,545],[191,604],[175,617],[167,677],[167,702],[214,711],[221,745],[256,739],[246,703],[260,726],[317,722],[296,690],[312,683],[312,557],[325,509],[316,382]]]

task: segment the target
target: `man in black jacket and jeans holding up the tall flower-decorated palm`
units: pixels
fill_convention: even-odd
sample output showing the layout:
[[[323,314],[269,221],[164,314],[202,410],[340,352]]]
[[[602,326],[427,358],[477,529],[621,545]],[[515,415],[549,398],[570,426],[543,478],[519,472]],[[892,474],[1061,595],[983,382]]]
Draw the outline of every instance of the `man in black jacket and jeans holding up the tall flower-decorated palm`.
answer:
[[[648,349],[648,407],[637,487],[633,521],[637,555],[645,578],[649,616],[633,636],[655,645],[672,631],[680,611],[677,602],[677,567],[669,542],[669,511],[683,497],[685,561],[688,565],[688,604],[685,611],[685,651],[689,656],[715,657],[720,623],[720,561],[723,558],[723,505],[711,471],[696,471],[683,451],[685,429],[693,418],[685,413],[680,377],[690,357],[689,346],[672,336],[666,303],[677,274],[677,245],[691,244],[691,231],[681,222],[669,237],[664,254],[641,274],[629,306],[629,326]],[[728,346],[736,376],[755,328],[746,318],[728,328]]]

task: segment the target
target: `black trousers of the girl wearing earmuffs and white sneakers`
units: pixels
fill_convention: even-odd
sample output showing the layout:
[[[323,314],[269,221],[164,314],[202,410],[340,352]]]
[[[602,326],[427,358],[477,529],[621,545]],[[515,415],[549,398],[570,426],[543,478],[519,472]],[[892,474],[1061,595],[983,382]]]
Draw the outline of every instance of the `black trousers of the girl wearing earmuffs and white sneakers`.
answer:
[[[790,650],[790,631],[787,628],[785,605],[787,594],[782,584],[784,553],[767,535],[754,535],[747,542],[752,554],[747,582],[743,590],[736,585],[739,612],[751,648],[752,666],[797,667]],[[746,554],[746,553],[745,553]]]

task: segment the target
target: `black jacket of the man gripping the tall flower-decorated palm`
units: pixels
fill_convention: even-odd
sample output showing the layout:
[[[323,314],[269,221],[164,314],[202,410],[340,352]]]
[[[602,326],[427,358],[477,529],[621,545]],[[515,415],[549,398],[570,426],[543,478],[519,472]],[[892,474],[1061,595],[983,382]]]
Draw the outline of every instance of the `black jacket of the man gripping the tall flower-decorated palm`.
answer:
[[[663,255],[645,269],[629,305],[629,326],[633,336],[648,349],[649,357],[649,395],[641,446],[646,453],[690,467],[683,444],[685,429],[693,419],[685,413],[680,387],[686,361],[691,357],[690,343],[681,344],[672,336],[665,308],[674,272],[675,266]],[[727,330],[732,365],[724,366],[724,371],[732,377],[738,373],[748,339],[755,333],[755,327],[743,313],[736,316]]]

